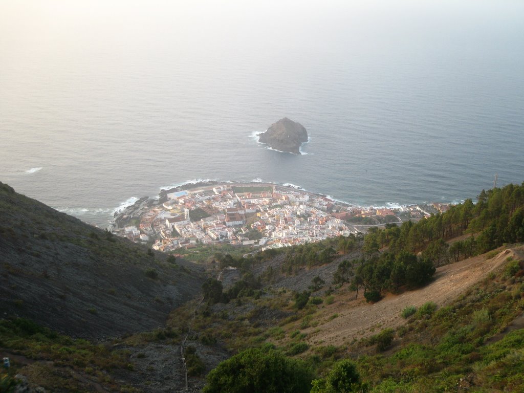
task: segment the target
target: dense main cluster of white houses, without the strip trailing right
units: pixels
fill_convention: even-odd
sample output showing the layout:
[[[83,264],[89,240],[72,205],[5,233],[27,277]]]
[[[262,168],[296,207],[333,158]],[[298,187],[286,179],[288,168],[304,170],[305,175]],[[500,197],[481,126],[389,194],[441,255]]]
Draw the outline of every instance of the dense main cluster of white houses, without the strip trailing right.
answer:
[[[347,211],[336,217],[340,209],[332,200],[275,184],[221,184],[166,197],[121,235],[169,251],[219,242],[288,245],[351,233],[343,221]]]

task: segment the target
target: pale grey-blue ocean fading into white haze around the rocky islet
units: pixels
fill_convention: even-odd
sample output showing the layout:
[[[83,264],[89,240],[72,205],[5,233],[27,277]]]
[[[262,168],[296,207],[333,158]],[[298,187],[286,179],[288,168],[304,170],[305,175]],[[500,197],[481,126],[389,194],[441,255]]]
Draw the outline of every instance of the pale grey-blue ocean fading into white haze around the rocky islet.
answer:
[[[225,3],[2,2],[0,181],[105,226],[192,179],[360,205],[524,180],[524,2]],[[301,156],[254,137],[284,116]]]

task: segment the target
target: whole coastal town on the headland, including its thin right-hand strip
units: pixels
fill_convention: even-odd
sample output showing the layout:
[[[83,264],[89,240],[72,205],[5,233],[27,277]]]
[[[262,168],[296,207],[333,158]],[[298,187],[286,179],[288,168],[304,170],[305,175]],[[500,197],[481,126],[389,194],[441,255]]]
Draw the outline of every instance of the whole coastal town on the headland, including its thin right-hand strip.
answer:
[[[140,199],[115,214],[110,230],[164,252],[217,243],[278,248],[417,221],[446,209],[439,203],[362,208],[291,185],[208,182]]]

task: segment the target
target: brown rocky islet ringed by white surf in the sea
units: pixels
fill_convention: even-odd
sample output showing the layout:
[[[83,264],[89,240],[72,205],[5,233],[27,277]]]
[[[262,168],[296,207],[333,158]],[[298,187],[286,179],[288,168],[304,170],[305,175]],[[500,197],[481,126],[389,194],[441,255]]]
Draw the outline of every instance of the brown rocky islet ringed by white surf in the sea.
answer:
[[[271,149],[300,154],[300,145],[308,141],[308,132],[302,124],[284,117],[258,134],[258,141],[269,144]]]

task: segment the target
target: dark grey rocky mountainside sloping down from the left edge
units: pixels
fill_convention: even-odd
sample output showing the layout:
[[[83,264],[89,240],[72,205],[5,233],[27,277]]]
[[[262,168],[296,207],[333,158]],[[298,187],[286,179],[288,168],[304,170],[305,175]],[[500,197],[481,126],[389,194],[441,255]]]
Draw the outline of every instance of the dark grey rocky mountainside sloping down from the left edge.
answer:
[[[73,336],[154,329],[200,291],[201,272],[0,183],[1,315]]]

